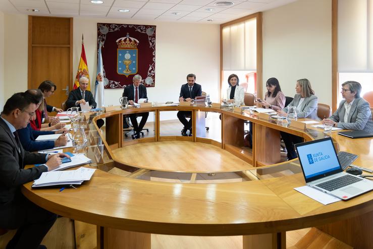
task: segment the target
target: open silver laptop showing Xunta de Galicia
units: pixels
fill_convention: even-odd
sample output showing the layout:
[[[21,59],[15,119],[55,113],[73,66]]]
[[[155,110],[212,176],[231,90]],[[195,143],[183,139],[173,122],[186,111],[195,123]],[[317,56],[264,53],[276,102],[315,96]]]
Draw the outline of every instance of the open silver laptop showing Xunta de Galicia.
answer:
[[[306,185],[348,200],[373,189],[373,181],[342,171],[330,137],[295,144]]]

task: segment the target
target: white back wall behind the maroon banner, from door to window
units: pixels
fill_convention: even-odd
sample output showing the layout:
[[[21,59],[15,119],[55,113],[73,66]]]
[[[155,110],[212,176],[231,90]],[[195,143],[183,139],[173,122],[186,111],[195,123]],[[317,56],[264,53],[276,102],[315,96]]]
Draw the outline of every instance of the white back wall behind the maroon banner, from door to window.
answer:
[[[186,83],[189,73],[196,74],[196,82],[202,85],[203,91],[210,93],[212,99],[219,99],[219,25],[75,18],[74,77],[80,60],[83,33],[92,91],[97,66],[97,22],[156,25],[155,87],[147,88],[149,101],[176,102],[181,84]],[[105,89],[104,92],[105,106],[118,105],[123,89]],[[176,119],[176,116],[169,118]]]

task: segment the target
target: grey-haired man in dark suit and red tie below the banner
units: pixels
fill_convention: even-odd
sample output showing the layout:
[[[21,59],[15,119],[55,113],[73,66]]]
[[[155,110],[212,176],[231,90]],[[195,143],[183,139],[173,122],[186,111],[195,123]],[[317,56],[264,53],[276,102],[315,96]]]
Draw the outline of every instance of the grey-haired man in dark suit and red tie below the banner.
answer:
[[[128,85],[123,90],[123,96],[127,97],[128,103],[133,105],[133,103],[137,103],[140,98],[148,98],[146,95],[146,87],[143,84],[140,84],[141,76],[136,74],[133,76],[133,84]],[[134,129],[134,137],[133,138],[140,138],[140,132],[144,128],[146,120],[148,119],[149,113],[137,113],[137,114],[130,114],[131,123]],[[137,116],[142,116],[140,124],[137,124]]]

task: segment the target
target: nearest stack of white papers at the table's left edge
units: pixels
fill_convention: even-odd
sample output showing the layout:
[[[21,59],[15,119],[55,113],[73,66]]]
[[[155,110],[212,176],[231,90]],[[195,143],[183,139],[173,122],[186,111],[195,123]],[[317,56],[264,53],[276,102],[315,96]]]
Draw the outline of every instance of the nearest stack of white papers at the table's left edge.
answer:
[[[77,170],[69,171],[50,171],[43,172],[39,179],[36,179],[32,187],[46,187],[56,185],[80,185],[83,181],[91,179],[96,169],[80,167]]]

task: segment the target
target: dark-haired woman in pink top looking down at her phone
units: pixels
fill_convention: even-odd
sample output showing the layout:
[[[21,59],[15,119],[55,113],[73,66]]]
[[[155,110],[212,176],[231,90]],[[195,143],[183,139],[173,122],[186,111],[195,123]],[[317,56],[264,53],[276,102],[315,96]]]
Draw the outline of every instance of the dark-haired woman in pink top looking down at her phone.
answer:
[[[282,110],[285,106],[285,95],[281,91],[280,83],[276,78],[267,80],[267,92],[264,96],[264,101],[257,99],[263,108],[270,108],[274,111]]]

